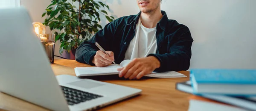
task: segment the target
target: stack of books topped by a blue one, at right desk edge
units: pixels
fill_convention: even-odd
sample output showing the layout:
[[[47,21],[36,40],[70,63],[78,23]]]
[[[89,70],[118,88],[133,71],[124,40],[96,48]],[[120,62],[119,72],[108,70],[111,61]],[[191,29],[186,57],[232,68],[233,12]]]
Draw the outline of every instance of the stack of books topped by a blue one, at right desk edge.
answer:
[[[205,98],[215,101],[214,103],[217,102],[217,104],[211,104],[215,111],[217,107],[226,108],[223,111],[227,111],[227,109],[230,111],[256,111],[256,70],[192,69],[189,78],[188,81],[176,83],[176,89],[193,94],[194,97],[190,100],[190,111],[192,111],[192,104],[200,103],[195,98]],[[207,104],[209,106],[209,103],[206,103],[200,103],[201,105],[193,106],[193,108],[204,111],[202,110],[203,106],[207,106]]]

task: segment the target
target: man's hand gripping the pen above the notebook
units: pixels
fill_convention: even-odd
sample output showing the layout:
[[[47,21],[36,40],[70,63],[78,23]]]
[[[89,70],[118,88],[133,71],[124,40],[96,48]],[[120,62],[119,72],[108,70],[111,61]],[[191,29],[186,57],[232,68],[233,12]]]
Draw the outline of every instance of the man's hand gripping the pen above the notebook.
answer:
[[[103,53],[101,50],[98,50],[96,52],[96,55],[93,58],[93,64],[95,64],[96,67],[106,67],[109,64],[111,64],[114,60],[114,53],[111,51],[106,51],[108,55]]]

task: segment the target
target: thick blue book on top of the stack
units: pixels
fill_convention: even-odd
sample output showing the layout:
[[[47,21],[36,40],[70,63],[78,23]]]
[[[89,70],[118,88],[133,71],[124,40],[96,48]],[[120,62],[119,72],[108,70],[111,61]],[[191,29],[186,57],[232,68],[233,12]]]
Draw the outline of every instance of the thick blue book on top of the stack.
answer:
[[[194,94],[256,95],[256,69],[192,69]]]

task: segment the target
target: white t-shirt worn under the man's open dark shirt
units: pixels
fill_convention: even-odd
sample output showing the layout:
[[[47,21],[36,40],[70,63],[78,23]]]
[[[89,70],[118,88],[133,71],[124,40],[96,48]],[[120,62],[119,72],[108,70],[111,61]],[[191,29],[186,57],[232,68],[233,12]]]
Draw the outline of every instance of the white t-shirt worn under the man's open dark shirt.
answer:
[[[143,58],[157,51],[157,28],[146,28],[139,19],[136,33],[125,53],[126,59]]]

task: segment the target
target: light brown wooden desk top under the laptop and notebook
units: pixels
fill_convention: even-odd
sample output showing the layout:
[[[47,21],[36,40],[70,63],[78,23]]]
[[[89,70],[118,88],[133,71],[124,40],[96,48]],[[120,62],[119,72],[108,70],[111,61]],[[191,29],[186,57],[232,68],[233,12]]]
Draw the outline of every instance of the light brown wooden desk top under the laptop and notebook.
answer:
[[[75,76],[75,67],[90,67],[74,60],[56,59],[52,64],[55,75]],[[189,72],[182,71],[189,77]],[[95,78],[97,80],[97,78]],[[189,78],[150,78],[142,80],[99,79],[100,81],[142,89],[142,94],[109,105],[99,111],[187,111],[190,94],[175,90],[175,83]],[[1,110],[2,109],[2,110]],[[48,111],[38,105],[0,93],[0,111]]]

